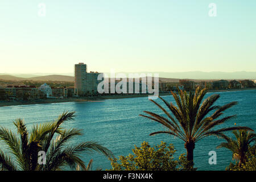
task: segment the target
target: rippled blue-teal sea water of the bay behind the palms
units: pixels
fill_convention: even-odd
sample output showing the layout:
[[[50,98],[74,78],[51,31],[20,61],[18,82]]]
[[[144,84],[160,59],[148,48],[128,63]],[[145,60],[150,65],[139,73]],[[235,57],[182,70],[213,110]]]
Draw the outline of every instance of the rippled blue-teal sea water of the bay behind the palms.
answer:
[[[208,93],[207,96],[210,94],[214,93]],[[249,126],[256,130],[256,90],[219,92],[218,94],[221,97],[216,102],[217,105],[238,101],[238,105],[225,112],[225,115],[237,114],[237,118],[224,123],[221,127],[230,127],[237,123],[237,126]],[[163,98],[167,101],[174,101],[172,96],[163,96]],[[159,99],[156,101],[162,103]],[[139,146],[143,141],[147,141],[154,146],[163,140],[174,144],[177,155],[186,152],[183,141],[178,138],[164,134],[149,136],[150,133],[163,130],[164,127],[159,123],[150,121],[150,119],[140,117],[139,114],[142,114],[143,110],[164,114],[162,110],[148,101],[147,97],[100,102],[65,102],[0,107],[0,125],[14,130],[14,119],[24,118],[30,128],[34,123],[52,121],[64,110],[76,111],[77,115],[75,121],[66,122],[64,126],[84,130],[84,135],[75,142],[97,141],[113,151],[116,157],[128,155],[131,153],[131,148],[134,148],[134,144]],[[224,170],[232,161],[232,153],[224,148],[216,149],[216,146],[221,142],[223,140],[217,137],[207,137],[196,143],[194,151],[195,167],[199,170]],[[217,152],[216,165],[208,164],[208,153],[212,150]],[[101,154],[85,154],[82,158],[86,163],[93,159],[93,169],[111,168],[109,160]]]

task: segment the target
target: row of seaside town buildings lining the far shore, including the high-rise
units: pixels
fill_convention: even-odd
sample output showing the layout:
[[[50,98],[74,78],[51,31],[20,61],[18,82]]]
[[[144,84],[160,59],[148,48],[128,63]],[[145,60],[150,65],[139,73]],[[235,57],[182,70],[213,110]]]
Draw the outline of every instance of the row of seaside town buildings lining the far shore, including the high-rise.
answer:
[[[139,74],[138,74],[139,75]],[[98,78],[100,76],[100,79]],[[126,76],[123,74],[123,76]],[[143,75],[142,75],[143,76]],[[168,82],[159,81],[159,78],[155,85],[155,78],[151,80],[153,85],[148,86],[148,77],[144,74],[145,79],[135,77],[131,80],[133,83],[129,83],[129,79],[123,83],[122,79],[112,80],[110,78],[105,78],[103,73],[99,72],[88,72],[88,65],[84,63],[77,63],[74,67],[74,77],[75,81],[71,82],[69,86],[63,86],[59,84],[58,86],[49,86],[46,83],[42,85],[26,85],[26,84],[11,84],[9,81],[0,80],[0,100],[40,100],[47,98],[68,98],[68,97],[88,97],[88,96],[102,96],[105,94],[117,95],[117,94],[148,94],[148,89],[154,88],[154,94],[169,93],[170,90],[176,91],[177,87],[182,90],[192,91],[195,90],[197,86],[201,88],[208,88],[209,90],[227,90],[227,89],[248,89],[255,88],[256,80],[211,80],[211,81],[192,81],[189,79],[179,79],[179,82]],[[105,78],[105,79],[104,79]],[[29,81],[29,78],[27,79]],[[106,82],[106,84],[101,85],[104,92],[99,92],[98,85],[101,82]],[[48,81],[51,82],[51,81]],[[52,81],[53,82],[53,81]],[[36,84],[36,81],[30,82],[31,84]],[[127,84],[127,85],[126,85]],[[1,86],[2,85],[2,86]],[[125,86],[125,88],[123,88]],[[122,89],[121,89],[122,88]],[[127,88],[129,92],[127,92]],[[156,90],[155,90],[156,89]],[[136,91],[135,91],[136,90]],[[153,93],[153,92],[150,92]]]

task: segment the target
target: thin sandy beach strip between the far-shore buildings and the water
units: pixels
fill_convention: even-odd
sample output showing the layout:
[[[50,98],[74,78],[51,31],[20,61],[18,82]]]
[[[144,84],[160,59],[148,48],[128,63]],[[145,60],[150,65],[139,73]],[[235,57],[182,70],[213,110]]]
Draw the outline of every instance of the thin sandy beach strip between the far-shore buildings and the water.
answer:
[[[208,93],[214,92],[232,92],[232,91],[243,91],[243,90],[256,90],[256,88],[246,89],[226,89],[226,90],[208,90]],[[159,93],[159,96],[171,95],[170,92]],[[0,107],[5,106],[16,106],[16,105],[33,105],[33,104],[51,104],[61,102],[102,102],[109,99],[119,98],[135,98],[135,97],[147,97],[148,94],[133,94],[133,95],[114,95],[114,96],[101,96],[93,98],[61,98],[61,99],[46,99],[46,100],[32,100],[32,101],[0,101]]]

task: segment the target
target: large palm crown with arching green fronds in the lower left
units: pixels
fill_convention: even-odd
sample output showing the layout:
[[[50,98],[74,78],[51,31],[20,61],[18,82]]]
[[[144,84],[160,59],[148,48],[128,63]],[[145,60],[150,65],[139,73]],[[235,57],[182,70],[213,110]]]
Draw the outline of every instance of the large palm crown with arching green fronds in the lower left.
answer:
[[[72,145],[71,139],[82,135],[81,130],[72,128],[64,129],[61,125],[65,121],[75,118],[75,112],[64,111],[55,121],[34,125],[30,134],[22,119],[16,119],[14,125],[18,135],[0,127],[0,139],[7,145],[11,156],[0,150],[0,169],[2,170],[61,170],[65,167],[76,169],[79,166],[86,170],[80,154],[83,152],[101,152],[108,158],[113,154],[106,147],[97,142],[81,142]],[[44,151],[44,165],[40,165],[39,151]],[[16,160],[13,160],[13,157]]]

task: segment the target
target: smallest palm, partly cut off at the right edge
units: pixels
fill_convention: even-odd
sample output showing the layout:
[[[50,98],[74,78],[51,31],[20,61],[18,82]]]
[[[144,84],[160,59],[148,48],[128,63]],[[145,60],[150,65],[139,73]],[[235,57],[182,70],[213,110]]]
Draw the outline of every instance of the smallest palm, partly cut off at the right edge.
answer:
[[[246,153],[250,148],[250,143],[256,140],[256,134],[246,130],[233,131],[236,140],[223,135],[226,143],[221,143],[217,148],[225,147],[233,152],[233,159],[239,160],[238,165],[245,164]]]

